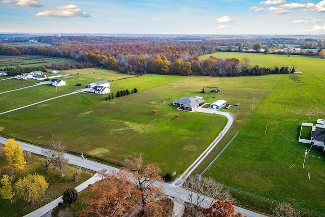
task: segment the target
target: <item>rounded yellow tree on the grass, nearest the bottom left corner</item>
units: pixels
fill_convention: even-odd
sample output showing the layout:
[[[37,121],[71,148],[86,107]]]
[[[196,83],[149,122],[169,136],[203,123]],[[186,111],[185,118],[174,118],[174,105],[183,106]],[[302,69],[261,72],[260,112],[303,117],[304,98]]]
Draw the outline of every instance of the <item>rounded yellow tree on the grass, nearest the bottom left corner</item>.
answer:
[[[17,194],[27,202],[34,202],[41,195],[45,194],[48,183],[43,175],[28,174],[24,178],[20,178],[16,183]]]

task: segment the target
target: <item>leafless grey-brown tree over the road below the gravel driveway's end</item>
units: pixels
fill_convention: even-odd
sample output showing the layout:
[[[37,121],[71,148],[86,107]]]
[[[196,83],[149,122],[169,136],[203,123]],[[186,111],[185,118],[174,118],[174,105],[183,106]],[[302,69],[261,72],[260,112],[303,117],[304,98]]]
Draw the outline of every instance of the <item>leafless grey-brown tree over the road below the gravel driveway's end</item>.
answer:
[[[212,178],[199,178],[190,176],[183,184],[184,189],[188,190],[190,209],[192,216],[195,217],[201,203],[212,198],[210,206],[215,200],[233,200],[229,191],[224,190],[223,185],[215,182]]]

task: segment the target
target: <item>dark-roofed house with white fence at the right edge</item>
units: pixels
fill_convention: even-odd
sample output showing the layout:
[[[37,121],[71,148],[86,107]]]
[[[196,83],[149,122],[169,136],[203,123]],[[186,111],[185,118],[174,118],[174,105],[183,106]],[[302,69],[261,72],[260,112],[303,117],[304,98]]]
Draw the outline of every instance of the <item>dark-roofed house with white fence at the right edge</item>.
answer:
[[[310,139],[301,138],[303,127],[311,127]],[[313,147],[322,148],[325,151],[325,120],[318,119],[315,126],[313,123],[302,123],[298,141],[311,144]]]

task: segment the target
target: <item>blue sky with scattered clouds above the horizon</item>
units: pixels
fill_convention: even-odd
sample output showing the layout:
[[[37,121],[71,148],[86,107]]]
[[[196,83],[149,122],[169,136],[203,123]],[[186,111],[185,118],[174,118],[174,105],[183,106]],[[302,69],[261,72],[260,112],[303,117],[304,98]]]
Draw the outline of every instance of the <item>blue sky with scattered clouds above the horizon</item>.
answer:
[[[0,33],[321,35],[325,1],[0,0]]]

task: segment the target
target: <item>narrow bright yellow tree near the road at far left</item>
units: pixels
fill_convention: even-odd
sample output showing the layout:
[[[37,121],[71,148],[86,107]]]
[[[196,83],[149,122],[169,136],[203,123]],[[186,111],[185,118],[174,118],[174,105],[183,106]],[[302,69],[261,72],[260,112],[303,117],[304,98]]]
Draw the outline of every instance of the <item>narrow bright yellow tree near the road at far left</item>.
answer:
[[[9,166],[13,167],[15,171],[22,170],[26,161],[19,143],[15,144],[14,139],[8,139],[8,142],[3,146],[3,149]]]

